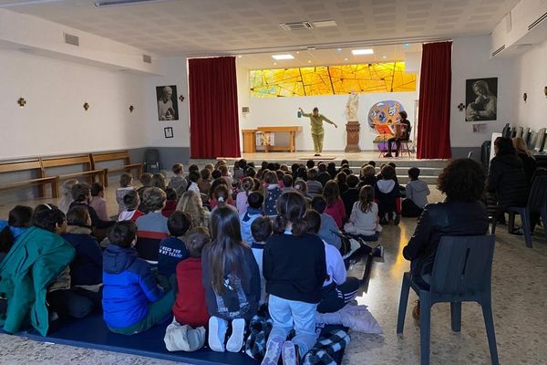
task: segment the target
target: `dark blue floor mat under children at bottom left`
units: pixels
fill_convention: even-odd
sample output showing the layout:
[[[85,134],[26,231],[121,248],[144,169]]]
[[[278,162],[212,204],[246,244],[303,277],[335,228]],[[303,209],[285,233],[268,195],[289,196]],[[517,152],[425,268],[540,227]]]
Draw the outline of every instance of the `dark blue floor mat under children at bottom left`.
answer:
[[[22,335],[27,339],[40,342],[123,352],[130,355],[191,364],[255,365],[259,363],[244,353],[215,352],[207,348],[195,352],[170,352],[165,349],[163,342],[165,328],[167,328],[167,324],[150,328],[137,335],[119,335],[108,330],[102,315],[98,313],[88,318],[63,324],[61,328],[51,330],[46,337],[42,337],[36,331],[24,332]]]

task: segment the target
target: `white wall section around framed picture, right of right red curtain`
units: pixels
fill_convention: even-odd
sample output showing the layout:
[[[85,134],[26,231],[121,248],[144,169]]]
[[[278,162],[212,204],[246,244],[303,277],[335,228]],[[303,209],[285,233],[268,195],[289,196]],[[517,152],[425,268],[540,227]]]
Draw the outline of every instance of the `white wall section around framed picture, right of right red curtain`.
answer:
[[[501,131],[516,118],[514,72],[512,59],[490,59],[490,36],[463,36],[453,40],[452,93],[450,101],[450,143],[452,147],[479,147],[490,140],[491,133]],[[465,121],[465,87],[468,78],[498,78],[498,120],[486,123],[487,133],[473,133],[472,122]]]

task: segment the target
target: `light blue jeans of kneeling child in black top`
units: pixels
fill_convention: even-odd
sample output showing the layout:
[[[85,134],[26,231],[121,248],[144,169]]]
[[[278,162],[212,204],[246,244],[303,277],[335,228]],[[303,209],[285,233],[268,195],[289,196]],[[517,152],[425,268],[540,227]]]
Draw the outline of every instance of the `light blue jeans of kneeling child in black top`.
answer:
[[[269,338],[279,336],[286,339],[294,327],[296,336],[292,341],[294,345],[298,346],[300,357],[304,358],[304,355],[314,347],[317,340],[315,335],[316,308],[317,304],[288,300],[270,294],[268,309],[274,321],[274,327]]]

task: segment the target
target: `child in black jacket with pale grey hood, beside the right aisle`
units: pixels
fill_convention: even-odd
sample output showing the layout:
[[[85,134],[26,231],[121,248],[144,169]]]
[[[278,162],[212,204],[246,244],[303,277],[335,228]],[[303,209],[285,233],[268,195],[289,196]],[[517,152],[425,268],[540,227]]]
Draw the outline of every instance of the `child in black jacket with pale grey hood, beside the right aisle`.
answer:
[[[399,224],[401,214],[401,194],[397,183],[393,180],[395,169],[389,165],[382,168],[382,178],[374,186],[375,201],[378,204],[380,224],[393,220]]]

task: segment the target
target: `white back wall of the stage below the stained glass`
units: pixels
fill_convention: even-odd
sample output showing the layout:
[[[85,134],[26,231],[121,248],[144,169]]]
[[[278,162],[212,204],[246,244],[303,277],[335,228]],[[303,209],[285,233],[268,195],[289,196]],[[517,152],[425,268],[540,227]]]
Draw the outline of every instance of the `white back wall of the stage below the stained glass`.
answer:
[[[311,112],[314,107],[328,119],[333,120],[338,128],[325,123],[325,151],[344,151],[346,148],[346,103],[349,95],[324,95],[293,98],[250,98],[248,73],[245,68],[237,68],[238,71],[238,104],[240,107],[240,130],[252,129],[261,126],[294,126],[302,125],[303,130],[296,134],[297,151],[313,151],[314,142],[310,134],[310,122],[308,118],[297,118],[298,107]],[[377,132],[368,127],[368,110],[382,100],[397,100],[401,102],[408,112],[408,120],[414,120],[414,100],[418,99],[417,92],[393,92],[359,94],[359,109],[357,118],[361,122],[359,135],[359,147],[362,150],[373,150],[372,141],[377,137]],[[251,108],[247,116],[243,116],[241,107]],[[275,144],[284,143],[286,138],[275,137]]]

